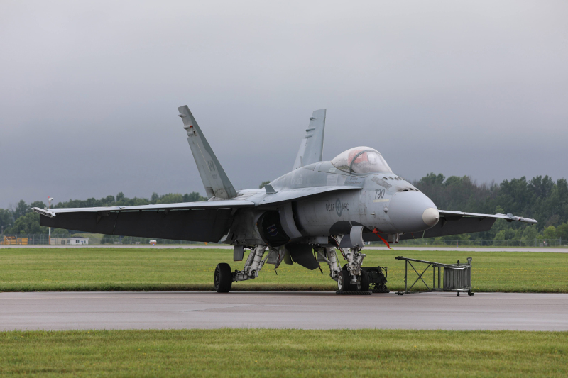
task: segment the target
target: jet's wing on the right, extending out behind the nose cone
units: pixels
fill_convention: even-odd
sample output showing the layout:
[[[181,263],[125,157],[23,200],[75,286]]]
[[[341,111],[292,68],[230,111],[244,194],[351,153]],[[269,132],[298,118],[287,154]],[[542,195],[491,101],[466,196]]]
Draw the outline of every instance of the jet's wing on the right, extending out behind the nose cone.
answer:
[[[440,219],[436,226],[420,233],[406,233],[400,239],[437,238],[438,236],[458,235],[461,233],[479,233],[491,230],[497,219],[508,222],[518,221],[537,223],[535,219],[513,216],[513,214],[478,214],[464,213],[462,211],[438,210]]]

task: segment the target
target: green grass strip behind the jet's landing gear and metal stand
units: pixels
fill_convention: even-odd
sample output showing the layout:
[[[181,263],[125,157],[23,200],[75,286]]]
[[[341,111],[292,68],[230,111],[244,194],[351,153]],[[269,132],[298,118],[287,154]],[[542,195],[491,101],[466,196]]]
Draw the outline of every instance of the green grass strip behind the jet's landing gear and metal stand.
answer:
[[[388,267],[388,287],[403,289],[398,255],[454,263],[473,257],[474,291],[568,293],[568,254],[543,252],[447,252],[366,250],[366,266]],[[151,248],[5,248],[0,250],[0,291],[212,290],[218,262],[242,269],[232,250]],[[340,262],[343,260],[340,257]],[[258,279],[234,290],[334,290],[327,265],[265,265]],[[410,269],[410,268],[409,268]],[[414,273],[412,273],[414,274]],[[409,277],[413,277],[409,274]],[[416,276],[414,276],[416,277]],[[431,270],[425,274],[432,282]],[[423,287],[423,286],[422,286]]]

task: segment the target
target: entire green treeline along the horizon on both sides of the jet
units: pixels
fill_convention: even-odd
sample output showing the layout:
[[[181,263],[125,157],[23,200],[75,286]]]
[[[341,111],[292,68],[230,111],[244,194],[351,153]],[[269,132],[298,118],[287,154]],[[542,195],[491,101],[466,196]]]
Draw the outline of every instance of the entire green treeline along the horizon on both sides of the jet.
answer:
[[[450,235],[447,240],[535,240],[558,239],[568,241],[568,182],[537,176],[528,181],[504,180],[501,184],[477,184],[471,177],[444,177],[443,174],[427,174],[413,182],[415,187],[430,197],[438,209],[459,210],[471,213],[512,213],[515,216],[535,218],[538,224],[528,226],[520,222],[496,221],[491,230],[484,233]],[[153,193],[150,198],[128,198],[123,193],[102,199],[70,199],[54,207],[135,206],[147,204],[172,204],[176,202],[205,201],[199,193]],[[19,201],[13,209],[0,209],[0,226],[8,235],[45,234],[48,229],[39,226],[39,215],[32,207],[44,208],[45,203],[35,201],[26,204]],[[67,230],[52,230],[52,234]]]

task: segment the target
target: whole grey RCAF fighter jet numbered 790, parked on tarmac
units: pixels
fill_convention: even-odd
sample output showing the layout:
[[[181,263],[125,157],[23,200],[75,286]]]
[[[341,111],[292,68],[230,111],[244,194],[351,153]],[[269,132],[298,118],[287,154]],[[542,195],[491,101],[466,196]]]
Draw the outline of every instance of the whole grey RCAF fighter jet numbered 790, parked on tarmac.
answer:
[[[145,206],[39,209],[40,224],[107,235],[191,240],[233,245],[220,263],[214,288],[258,277],[265,264],[329,267],[338,291],[387,290],[381,269],[362,267],[368,241],[490,230],[496,219],[537,223],[512,214],[439,210],[420,190],[395,174],[378,150],[355,147],[322,161],[326,109],[314,111],[292,171],[263,189],[235,190],[187,106],[178,108],[208,201]],[[346,260],[339,266],[336,250]],[[374,286],[373,286],[374,285]],[[383,285],[382,287],[379,287]]]

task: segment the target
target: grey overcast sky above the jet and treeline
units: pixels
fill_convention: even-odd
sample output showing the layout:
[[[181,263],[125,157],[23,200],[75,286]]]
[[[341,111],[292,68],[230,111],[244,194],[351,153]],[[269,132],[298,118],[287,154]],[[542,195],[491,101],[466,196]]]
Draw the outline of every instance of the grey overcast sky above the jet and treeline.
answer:
[[[0,2],[0,207],[204,195],[187,104],[236,189],[368,145],[407,179],[568,177],[567,1]]]

